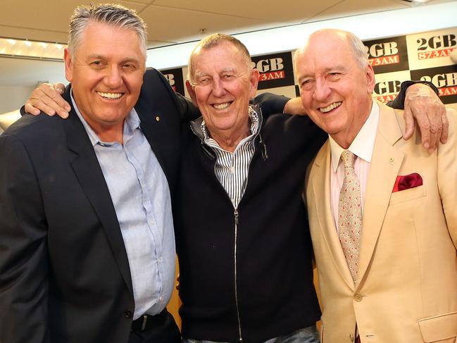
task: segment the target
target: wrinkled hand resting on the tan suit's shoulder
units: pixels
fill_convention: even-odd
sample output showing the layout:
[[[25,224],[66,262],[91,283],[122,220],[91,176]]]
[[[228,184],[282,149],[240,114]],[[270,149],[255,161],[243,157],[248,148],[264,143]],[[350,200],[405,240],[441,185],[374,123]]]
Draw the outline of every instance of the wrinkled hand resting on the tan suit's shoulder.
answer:
[[[413,135],[415,118],[425,149],[432,152],[437,149],[439,142],[446,143],[449,130],[446,108],[427,85],[418,83],[406,89],[404,116],[406,131],[403,139]]]

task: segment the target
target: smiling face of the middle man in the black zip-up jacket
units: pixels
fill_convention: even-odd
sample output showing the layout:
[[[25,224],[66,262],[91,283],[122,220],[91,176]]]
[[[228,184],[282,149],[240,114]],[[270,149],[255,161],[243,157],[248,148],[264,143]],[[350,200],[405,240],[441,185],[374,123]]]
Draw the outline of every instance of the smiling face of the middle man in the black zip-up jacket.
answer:
[[[221,42],[193,56],[192,87],[187,89],[199,106],[211,137],[240,140],[249,132],[249,99],[256,95],[258,70],[234,44]],[[244,137],[241,137],[244,138]]]

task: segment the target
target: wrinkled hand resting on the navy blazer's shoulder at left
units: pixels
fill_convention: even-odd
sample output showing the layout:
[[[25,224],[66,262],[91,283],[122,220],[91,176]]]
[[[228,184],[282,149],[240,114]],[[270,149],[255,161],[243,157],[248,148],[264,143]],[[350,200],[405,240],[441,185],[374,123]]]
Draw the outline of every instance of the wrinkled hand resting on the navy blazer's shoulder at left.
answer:
[[[25,103],[25,112],[37,116],[40,111],[43,111],[49,116],[54,116],[57,113],[58,116],[67,118],[70,105],[61,96],[64,89],[63,83],[54,85],[42,83],[42,85],[33,90],[30,98]]]

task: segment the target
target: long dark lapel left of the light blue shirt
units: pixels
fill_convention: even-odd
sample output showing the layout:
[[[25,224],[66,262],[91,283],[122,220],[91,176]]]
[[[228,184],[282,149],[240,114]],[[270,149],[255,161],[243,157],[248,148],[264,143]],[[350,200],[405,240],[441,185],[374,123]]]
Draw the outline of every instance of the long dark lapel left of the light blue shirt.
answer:
[[[65,96],[65,99],[71,104],[69,92],[68,97]],[[101,225],[104,227],[120,274],[123,276],[130,293],[133,294],[132,278],[130,276],[130,267],[124,240],[120,232],[113,201],[111,200],[111,195],[109,194],[104,175],[101,172],[94,148],[73,108],[69,118],[63,121],[63,125],[67,136],[68,149],[76,154],[71,165],[75,171],[77,180],[79,180],[83,192],[92,204]]]

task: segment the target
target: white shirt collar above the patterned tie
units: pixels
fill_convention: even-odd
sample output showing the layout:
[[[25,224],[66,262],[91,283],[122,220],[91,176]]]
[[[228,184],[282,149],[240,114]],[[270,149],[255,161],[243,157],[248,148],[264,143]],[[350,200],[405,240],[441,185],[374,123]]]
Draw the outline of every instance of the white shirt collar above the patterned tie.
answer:
[[[371,162],[371,157],[373,155],[373,148],[375,147],[375,139],[377,132],[377,124],[380,121],[380,107],[373,101],[371,106],[370,116],[365,120],[361,130],[354,138],[353,142],[349,146],[348,150],[351,151],[354,155],[362,158],[367,162]],[[337,142],[334,141],[332,137],[329,136],[330,141],[330,150],[332,151],[332,168],[334,173],[336,173],[339,159],[342,152],[345,150]]]

